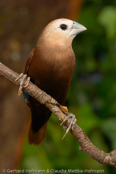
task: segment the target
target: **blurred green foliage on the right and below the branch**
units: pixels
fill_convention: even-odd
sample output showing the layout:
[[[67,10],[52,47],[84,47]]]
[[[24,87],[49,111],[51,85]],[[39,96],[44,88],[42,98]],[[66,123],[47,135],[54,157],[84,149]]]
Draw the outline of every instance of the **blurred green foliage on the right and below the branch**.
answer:
[[[78,22],[87,27],[73,49],[76,67],[66,105],[94,145],[105,152],[116,149],[116,1],[86,0]],[[84,152],[52,115],[44,141],[23,149],[20,169],[93,169],[116,173]]]

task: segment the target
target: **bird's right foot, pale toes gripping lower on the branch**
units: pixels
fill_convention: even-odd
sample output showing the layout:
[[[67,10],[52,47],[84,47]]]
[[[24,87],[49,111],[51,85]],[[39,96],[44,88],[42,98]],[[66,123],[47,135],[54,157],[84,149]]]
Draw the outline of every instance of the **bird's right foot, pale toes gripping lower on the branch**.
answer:
[[[77,119],[75,118],[75,115],[72,113],[69,113],[69,115],[62,121],[62,123],[60,124],[63,125],[64,122],[66,122],[69,118],[71,118],[71,122],[69,124],[69,126],[66,129],[66,126],[64,126],[64,129],[66,130],[64,136],[62,137],[62,140],[64,139],[64,137],[66,136],[66,134],[70,131],[70,129],[73,129],[73,125],[76,123]]]

